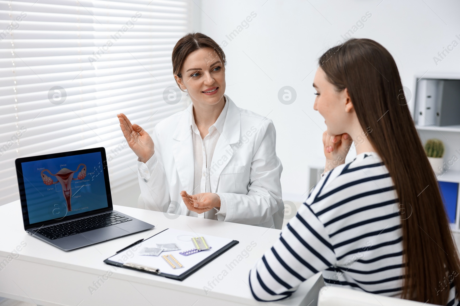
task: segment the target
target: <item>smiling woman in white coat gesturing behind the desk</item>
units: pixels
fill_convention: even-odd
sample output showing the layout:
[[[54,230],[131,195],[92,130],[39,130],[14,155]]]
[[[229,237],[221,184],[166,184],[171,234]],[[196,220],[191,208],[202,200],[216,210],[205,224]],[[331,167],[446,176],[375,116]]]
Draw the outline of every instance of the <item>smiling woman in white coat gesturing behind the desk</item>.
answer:
[[[152,210],[267,228],[282,226],[282,165],[273,122],[225,93],[225,55],[202,33],[173,49],[173,73],[192,104],[150,135],[117,117],[138,156],[139,184]]]

